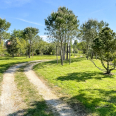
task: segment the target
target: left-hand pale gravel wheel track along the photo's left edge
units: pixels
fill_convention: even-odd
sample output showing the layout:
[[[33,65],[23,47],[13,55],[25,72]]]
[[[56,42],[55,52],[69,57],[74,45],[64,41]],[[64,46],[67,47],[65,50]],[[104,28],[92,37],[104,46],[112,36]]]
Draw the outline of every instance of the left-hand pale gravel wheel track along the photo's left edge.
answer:
[[[20,93],[14,83],[14,72],[26,63],[10,67],[3,75],[2,94],[0,96],[0,116],[9,116],[11,113],[25,107],[25,103],[19,97]],[[22,115],[22,114],[20,114]]]

